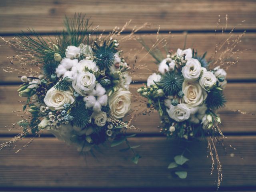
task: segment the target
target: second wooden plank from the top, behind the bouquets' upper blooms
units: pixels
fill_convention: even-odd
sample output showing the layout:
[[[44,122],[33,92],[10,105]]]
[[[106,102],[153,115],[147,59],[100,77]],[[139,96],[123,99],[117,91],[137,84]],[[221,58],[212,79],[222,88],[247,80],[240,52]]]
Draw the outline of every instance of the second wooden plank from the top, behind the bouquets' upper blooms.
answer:
[[[166,37],[166,35],[162,35],[161,37]],[[184,34],[172,34],[167,37],[170,49],[175,51],[177,48],[183,48],[185,38]],[[203,54],[205,51],[208,51],[207,58],[210,59],[214,54],[215,44],[220,41],[222,35],[219,34],[217,37],[218,39],[216,39],[215,34],[188,34],[186,46],[197,49],[199,54]],[[12,37],[6,37],[6,39],[9,40],[11,38]],[[148,45],[152,45],[156,40],[156,34],[144,35],[142,38]],[[0,46],[0,67],[3,68],[8,66],[10,62],[6,56],[13,56],[16,54],[11,48],[4,45],[4,42],[0,42],[0,44],[2,45]],[[256,52],[255,44],[256,34],[246,34],[244,36],[242,42],[237,46],[237,49],[250,50],[240,54],[239,63],[228,69],[228,80],[256,80],[256,55],[254,54],[254,52]],[[133,80],[145,82],[150,74],[156,72],[157,66],[154,63],[152,56],[146,55],[146,52],[142,51],[141,48],[142,45],[135,40],[121,43],[121,49],[124,50],[124,57],[130,62],[131,66],[135,62],[135,55],[137,56],[135,67],[138,67],[138,69],[132,73]],[[229,60],[236,60],[236,56],[231,57]],[[18,62],[16,62],[15,65],[18,65]],[[18,79],[17,76],[17,72],[6,73],[0,70],[0,82],[2,83],[19,82],[20,79]]]

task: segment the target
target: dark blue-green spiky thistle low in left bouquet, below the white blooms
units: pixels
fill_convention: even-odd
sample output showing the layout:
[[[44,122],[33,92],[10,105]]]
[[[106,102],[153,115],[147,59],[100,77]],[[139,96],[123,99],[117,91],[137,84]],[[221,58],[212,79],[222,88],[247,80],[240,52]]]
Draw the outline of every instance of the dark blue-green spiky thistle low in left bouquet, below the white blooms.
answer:
[[[86,109],[83,103],[76,103],[76,106],[72,107],[70,115],[73,116],[72,125],[80,128],[86,128],[90,124],[90,116],[92,110]],[[106,134],[106,133],[105,133]]]

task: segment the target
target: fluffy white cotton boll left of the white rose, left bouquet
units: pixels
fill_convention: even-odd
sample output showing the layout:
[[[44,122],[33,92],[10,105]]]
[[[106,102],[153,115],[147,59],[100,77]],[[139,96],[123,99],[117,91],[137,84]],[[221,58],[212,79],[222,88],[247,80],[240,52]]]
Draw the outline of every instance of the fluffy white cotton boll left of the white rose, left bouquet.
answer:
[[[77,76],[77,66],[78,60],[70,58],[64,58],[61,60],[60,65],[56,68],[57,77],[63,75],[63,77],[68,77],[74,79]]]

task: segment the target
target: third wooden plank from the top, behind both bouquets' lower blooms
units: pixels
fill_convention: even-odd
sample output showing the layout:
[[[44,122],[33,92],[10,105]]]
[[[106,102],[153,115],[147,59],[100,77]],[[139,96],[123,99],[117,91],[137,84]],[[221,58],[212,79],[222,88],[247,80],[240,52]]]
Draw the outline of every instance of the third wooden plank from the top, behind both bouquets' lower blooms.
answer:
[[[138,106],[142,102],[140,98],[138,100],[138,94],[136,94],[137,88],[142,84],[132,84],[131,92],[136,95],[132,101],[133,108]],[[7,132],[6,130],[11,128],[14,122],[18,122],[21,118],[18,114],[12,111],[22,110],[22,104],[18,100],[24,100],[20,98],[17,93],[18,86],[0,86],[0,134],[17,134],[19,130],[13,130]],[[243,110],[247,112],[256,112],[256,84],[228,84],[225,89],[225,94],[228,99],[227,108],[220,110],[220,116],[223,123],[223,130],[225,133],[248,133],[255,132],[256,116],[247,114],[242,115],[239,113],[231,112],[230,110]],[[142,130],[144,133],[156,134],[159,132],[157,126],[160,125],[160,118],[157,112],[154,112],[150,116],[139,116],[135,119],[133,124]],[[9,126],[7,128],[6,126]],[[45,132],[46,133],[46,132]],[[136,131],[140,134],[141,132]]]

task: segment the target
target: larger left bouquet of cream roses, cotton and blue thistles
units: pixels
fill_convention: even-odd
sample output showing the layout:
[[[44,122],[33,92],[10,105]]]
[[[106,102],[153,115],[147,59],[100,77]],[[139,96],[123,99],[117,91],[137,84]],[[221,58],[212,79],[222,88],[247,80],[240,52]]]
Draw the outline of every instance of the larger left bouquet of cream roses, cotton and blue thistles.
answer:
[[[130,146],[126,129],[138,128],[122,121],[131,106],[132,78],[118,50],[115,37],[120,31],[113,30],[105,38],[102,34],[93,37],[95,29],[89,31],[88,21],[80,14],[66,18],[66,30],[55,40],[43,38],[34,30],[29,32],[35,38],[25,33],[12,42],[2,38],[18,49],[15,59],[22,66],[22,70],[13,66],[5,70],[30,73],[21,76],[23,84],[18,89],[27,100],[23,111],[30,115],[14,124],[23,132],[2,144],[0,150],[29,133],[38,136],[43,130],[76,146],[79,152],[88,152],[107,140],[111,146],[124,141]],[[42,74],[24,70],[26,65],[37,66]],[[138,158],[135,154],[134,162]]]

